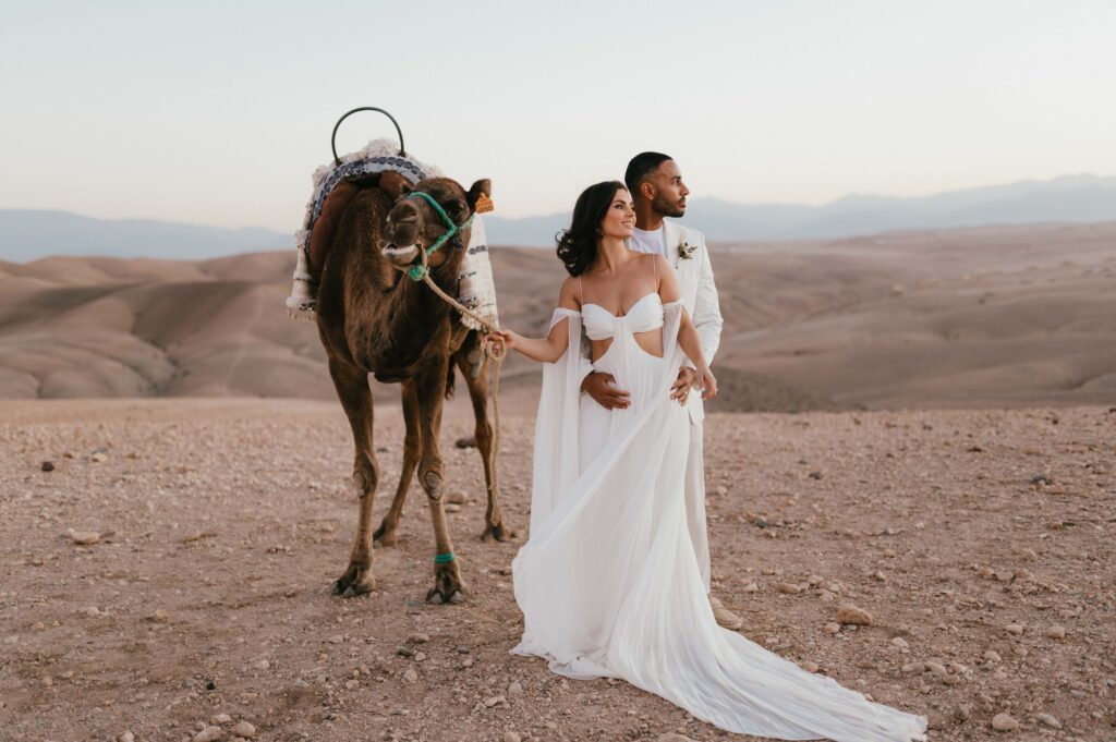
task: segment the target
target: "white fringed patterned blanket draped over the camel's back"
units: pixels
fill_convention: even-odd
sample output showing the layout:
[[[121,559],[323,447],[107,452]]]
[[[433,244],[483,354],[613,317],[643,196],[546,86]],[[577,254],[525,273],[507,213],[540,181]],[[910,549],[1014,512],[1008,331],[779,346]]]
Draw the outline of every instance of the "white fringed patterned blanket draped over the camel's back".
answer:
[[[287,314],[296,319],[314,320],[318,286],[309,271],[310,232],[321,213],[321,205],[334,187],[343,180],[359,177],[391,170],[417,183],[424,177],[441,176],[442,171],[422,163],[410,155],[401,157],[400,144],[394,139],[375,139],[368,146],[341,157],[340,165],[323,165],[314,171],[314,192],[306,204],[302,229],[296,233],[298,262],[295,266],[295,285],[287,298]],[[369,245],[369,249],[374,249]],[[451,291],[452,293],[452,291]],[[458,301],[483,317],[490,326],[499,326],[496,306],[496,283],[492,280],[492,263],[489,260],[484,223],[473,218],[473,225],[465,254],[458,274]],[[480,329],[477,320],[462,317],[461,324],[471,329]]]

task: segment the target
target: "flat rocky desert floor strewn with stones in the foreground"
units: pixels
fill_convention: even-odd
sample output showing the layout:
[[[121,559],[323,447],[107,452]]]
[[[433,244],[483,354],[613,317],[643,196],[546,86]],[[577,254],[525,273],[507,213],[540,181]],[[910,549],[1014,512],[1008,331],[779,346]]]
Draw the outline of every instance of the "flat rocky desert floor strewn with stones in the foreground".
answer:
[[[335,403],[0,402],[0,739],[752,739],[508,653],[528,412],[501,455],[520,536],[487,543],[448,408],[472,598],[433,606],[416,486],[378,589],[328,591],[356,518]],[[378,518],[397,409],[376,426]],[[713,591],[745,637],[927,715],[935,742],[1116,739],[1116,409],[720,413],[705,435]]]

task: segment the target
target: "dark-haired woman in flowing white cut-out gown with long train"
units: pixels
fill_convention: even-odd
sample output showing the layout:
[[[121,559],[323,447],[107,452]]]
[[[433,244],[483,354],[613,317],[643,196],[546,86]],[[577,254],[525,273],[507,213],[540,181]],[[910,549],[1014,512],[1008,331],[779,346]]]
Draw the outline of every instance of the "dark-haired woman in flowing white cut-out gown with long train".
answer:
[[[546,338],[489,339],[543,362],[530,538],[512,561],[516,654],[574,678],[619,677],[730,732],[837,742],[925,740],[926,719],[872,703],[718,626],[686,526],[690,424],[671,399],[689,357],[716,379],[662,256],[628,250],[623,183],[588,187],[559,239],[570,276]],[[579,393],[583,343],[631,394],[606,409]],[[684,395],[683,395],[684,398]]]

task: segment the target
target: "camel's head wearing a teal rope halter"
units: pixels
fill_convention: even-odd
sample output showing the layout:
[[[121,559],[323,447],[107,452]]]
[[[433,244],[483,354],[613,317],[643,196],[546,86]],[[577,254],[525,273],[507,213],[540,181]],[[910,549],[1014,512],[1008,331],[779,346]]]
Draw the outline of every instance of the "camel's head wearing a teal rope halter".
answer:
[[[383,180],[381,186],[396,197],[384,229],[384,257],[397,268],[419,262],[419,251],[429,251],[433,245],[437,249],[426,258],[430,268],[450,260],[454,250],[468,244],[470,216],[478,200],[488,197],[492,191],[488,180],[477,181],[468,192],[449,177],[427,177],[413,187],[402,177],[388,183]]]

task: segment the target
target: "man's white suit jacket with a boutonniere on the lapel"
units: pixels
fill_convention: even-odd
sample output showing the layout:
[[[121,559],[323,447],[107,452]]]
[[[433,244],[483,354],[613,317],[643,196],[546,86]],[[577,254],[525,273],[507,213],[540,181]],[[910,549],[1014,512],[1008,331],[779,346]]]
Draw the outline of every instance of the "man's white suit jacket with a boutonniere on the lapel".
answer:
[[[663,235],[666,240],[666,259],[674,266],[674,272],[679,277],[682,303],[690,312],[690,319],[694,327],[698,328],[705,363],[712,364],[716,348],[721,345],[721,326],[724,320],[721,318],[721,305],[716,297],[716,287],[713,285],[713,267],[709,260],[705,235],[698,230],[665,219],[663,220]],[[679,250],[683,243],[693,248],[691,257],[687,259],[682,259]],[[578,385],[593,372],[589,358],[589,343],[583,337]],[[693,364],[690,365],[693,366]],[[691,423],[698,423],[705,418],[705,406],[701,398],[701,392],[690,389],[686,409],[690,412]]]

